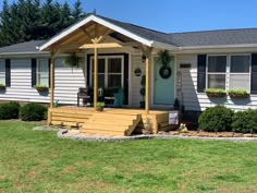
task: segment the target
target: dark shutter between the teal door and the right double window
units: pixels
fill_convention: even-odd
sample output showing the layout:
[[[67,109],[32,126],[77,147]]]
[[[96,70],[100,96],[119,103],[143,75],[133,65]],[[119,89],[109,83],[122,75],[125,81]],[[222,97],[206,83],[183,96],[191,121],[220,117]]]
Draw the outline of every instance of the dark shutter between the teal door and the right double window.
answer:
[[[198,55],[197,57],[197,92],[204,93],[206,88],[206,55]]]

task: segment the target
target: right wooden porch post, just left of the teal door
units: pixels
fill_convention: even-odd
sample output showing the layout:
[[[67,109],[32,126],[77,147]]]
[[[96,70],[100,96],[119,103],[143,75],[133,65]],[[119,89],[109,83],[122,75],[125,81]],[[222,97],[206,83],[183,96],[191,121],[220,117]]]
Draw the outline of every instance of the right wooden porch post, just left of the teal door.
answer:
[[[149,114],[149,76],[150,76],[150,58],[151,58],[151,48],[148,48],[146,51],[145,51],[145,55],[146,55],[146,106],[145,106],[145,111],[146,111],[146,114]]]

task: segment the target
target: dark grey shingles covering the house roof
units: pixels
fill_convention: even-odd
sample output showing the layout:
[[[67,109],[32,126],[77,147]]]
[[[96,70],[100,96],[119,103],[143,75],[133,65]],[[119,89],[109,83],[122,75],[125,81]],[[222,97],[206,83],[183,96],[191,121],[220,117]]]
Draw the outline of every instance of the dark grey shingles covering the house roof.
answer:
[[[89,16],[89,15],[88,15]],[[222,45],[246,45],[257,44],[257,28],[242,28],[242,29],[221,29],[221,31],[203,31],[189,33],[171,33],[166,34],[149,28],[140,27],[130,23],[115,21],[112,19],[95,15],[106,22],[114,24],[125,31],[128,31],[137,36],[148,40],[169,44],[179,47],[197,47],[197,46],[222,46]],[[32,40],[21,43],[12,46],[0,48],[0,55],[4,53],[25,53],[39,52],[36,49],[46,40]]]

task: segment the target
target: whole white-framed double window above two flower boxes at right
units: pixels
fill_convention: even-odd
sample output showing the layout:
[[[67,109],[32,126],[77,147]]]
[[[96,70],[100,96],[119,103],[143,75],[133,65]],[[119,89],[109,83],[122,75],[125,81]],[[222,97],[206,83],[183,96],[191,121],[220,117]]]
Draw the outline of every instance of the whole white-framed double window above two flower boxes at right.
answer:
[[[207,87],[250,88],[250,55],[208,56]]]

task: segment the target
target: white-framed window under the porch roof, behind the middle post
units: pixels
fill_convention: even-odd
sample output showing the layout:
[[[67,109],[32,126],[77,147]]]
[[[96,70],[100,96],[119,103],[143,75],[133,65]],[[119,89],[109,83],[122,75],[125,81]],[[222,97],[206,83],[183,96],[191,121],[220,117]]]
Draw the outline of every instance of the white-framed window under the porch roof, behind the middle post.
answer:
[[[91,59],[91,86],[94,86],[94,59]],[[123,57],[98,58],[98,86],[123,87]]]

